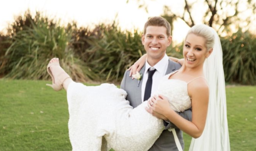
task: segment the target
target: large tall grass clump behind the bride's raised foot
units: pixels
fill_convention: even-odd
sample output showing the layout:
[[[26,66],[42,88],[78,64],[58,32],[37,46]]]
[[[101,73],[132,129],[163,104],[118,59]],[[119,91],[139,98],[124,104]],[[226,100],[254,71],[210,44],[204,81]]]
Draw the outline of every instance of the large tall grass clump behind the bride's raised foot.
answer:
[[[75,80],[84,81],[85,66],[75,58],[73,51],[73,28],[61,26],[58,21],[42,17],[40,13],[34,18],[23,19],[30,23],[20,24],[22,19],[18,17],[9,30],[13,31],[10,47],[5,50],[6,63],[0,74],[7,73],[5,77],[14,79],[48,79],[46,66],[49,59],[58,57],[62,67]]]

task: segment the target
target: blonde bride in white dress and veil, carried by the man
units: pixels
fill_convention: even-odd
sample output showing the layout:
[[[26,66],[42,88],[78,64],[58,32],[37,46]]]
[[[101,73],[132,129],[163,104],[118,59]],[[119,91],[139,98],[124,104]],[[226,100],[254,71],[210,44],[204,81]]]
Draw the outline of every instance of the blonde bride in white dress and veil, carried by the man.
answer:
[[[162,114],[194,137],[190,150],[229,151],[222,49],[217,33],[206,25],[193,26],[185,39],[183,57],[180,70],[164,76],[156,96],[136,108],[125,100],[123,89],[113,84],[75,83],[59,66],[58,58],[51,59],[47,71],[53,85],[47,85],[55,91],[67,91],[73,151],[147,151],[164,129],[162,120],[151,114]],[[192,121],[175,112],[191,106]],[[170,131],[175,136],[175,130]],[[179,141],[175,142],[181,151]]]

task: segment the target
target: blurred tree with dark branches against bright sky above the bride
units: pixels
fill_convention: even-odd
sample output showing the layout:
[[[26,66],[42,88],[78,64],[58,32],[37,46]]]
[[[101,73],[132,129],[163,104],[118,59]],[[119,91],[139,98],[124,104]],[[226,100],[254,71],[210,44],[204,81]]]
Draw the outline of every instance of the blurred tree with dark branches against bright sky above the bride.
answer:
[[[136,1],[139,7],[142,7],[141,5],[148,0]],[[174,7],[179,7],[181,11],[175,11]],[[142,8],[147,9],[147,6]],[[190,27],[200,22],[222,33],[224,27],[231,26],[247,30],[252,26],[251,21],[255,20],[255,14],[256,1],[252,0],[184,0],[182,6],[165,5],[162,16],[171,24],[179,18]],[[198,17],[201,19],[197,22]]]

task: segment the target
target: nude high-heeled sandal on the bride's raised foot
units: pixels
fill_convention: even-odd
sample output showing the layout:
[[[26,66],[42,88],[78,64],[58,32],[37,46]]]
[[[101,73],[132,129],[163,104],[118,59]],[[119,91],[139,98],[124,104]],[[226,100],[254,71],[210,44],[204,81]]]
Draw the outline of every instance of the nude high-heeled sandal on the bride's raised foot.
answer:
[[[59,62],[53,62],[47,65],[47,72],[51,76],[51,79],[53,80],[53,84],[46,84],[46,85],[52,87],[55,91],[60,91],[61,89],[63,89],[63,82],[66,79],[70,78],[70,76],[63,70],[61,71],[61,73],[58,73],[58,75],[55,76],[56,79],[54,79],[53,74],[51,73],[51,70],[50,70],[51,66],[59,66]]]

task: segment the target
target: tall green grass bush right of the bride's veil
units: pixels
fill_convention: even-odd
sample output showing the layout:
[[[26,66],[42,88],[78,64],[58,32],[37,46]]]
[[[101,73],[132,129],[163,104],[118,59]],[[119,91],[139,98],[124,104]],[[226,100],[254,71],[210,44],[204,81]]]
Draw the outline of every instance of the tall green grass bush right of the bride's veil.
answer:
[[[221,38],[225,80],[229,83],[256,84],[256,35],[239,29]]]

